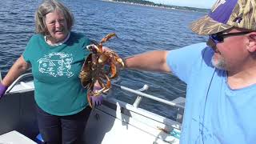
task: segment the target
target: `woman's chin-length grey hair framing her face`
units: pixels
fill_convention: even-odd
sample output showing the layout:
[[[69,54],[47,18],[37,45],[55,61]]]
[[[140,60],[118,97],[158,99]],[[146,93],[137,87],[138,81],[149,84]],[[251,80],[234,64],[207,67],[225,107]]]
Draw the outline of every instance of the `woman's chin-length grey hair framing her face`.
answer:
[[[55,10],[62,11],[66,18],[67,30],[70,31],[72,29],[72,26],[74,25],[74,16],[70,10],[58,0],[46,0],[38,6],[38,10],[35,13],[35,32],[37,34],[49,34],[46,27],[46,14],[52,13]]]

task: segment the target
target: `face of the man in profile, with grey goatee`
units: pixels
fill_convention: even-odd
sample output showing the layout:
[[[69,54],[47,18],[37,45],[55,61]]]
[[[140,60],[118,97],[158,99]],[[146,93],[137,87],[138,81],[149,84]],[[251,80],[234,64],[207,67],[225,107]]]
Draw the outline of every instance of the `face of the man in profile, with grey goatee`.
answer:
[[[221,70],[236,70],[242,66],[248,51],[245,48],[246,34],[240,30],[226,30],[223,32],[222,42],[218,42],[210,37],[207,45],[214,50],[211,59],[212,64]],[[220,36],[221,37],[221,36]]]

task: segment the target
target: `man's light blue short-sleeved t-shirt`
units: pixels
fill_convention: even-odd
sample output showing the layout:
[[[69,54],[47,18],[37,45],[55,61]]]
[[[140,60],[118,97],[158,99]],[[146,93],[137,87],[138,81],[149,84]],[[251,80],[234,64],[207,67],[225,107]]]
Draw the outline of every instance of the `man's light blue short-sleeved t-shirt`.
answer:
[[[205,43],[171,50],[167,62],[186,82],[181,144],[256,142],[256,84],[232,90],[226,70],[211,64],[214,51]]]

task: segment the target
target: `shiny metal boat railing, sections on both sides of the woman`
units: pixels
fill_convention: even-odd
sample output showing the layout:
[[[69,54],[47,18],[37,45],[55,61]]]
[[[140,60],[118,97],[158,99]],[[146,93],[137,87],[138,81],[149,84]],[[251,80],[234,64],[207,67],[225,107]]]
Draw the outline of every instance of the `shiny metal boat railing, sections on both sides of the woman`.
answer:
[[[22,74],[21,76],[19,76],[9,87],[8,89],[6,90],[6,94],[7,93],[10,93],[10,90],[12,90],[12,88],[18,84],[18,82],[22,82],[22,79],[24,78],[30,78],[30,77],[33,77],[32,73],[26,73],[26,74]],[[174,107],[177,107],[178,109],[182,109],[184,110],[184,106],[178,104],[177,102],[172,102],[172,101],[169,101],[169,100],[166,100],[166,99],[163,99],[163,98],[160,98],[160,97],[157,97],[157,96],[154,96],[154,95],[151,95],[151,94],[146,94],[146,93],[143,93],[143,91],[145,90],[148,90],[149,86],[147,85],[144,85],[141,89],[138,89],[138,90],[134,90],[134,89],[131,89],[129,87],[126,87],[126,86],[121,86],[121,85],[118,85],[117,83],[113,82],[112,83],[113,86],[117,86],[119,87],[121,90],[125,90],[125,91],[128,91],[132,94],[137,94],[137,98],[136,100],[134,101],[133,103],[133,106],[138,108],[140,102],[142,101],[142,98],[150,98],[154,101],[157,101],[157,102],[162,102],[162,103],[165,103],[166,105],[169,105],[169,106],[174,106]]]

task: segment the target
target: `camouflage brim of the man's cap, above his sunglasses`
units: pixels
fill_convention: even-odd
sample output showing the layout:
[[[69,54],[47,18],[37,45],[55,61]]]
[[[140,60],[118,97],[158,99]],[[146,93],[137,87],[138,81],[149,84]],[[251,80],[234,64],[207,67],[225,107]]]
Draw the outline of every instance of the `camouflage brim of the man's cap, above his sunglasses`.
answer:
[[[190,29],[194,33],[200,34],[200,35],[216,34],[218,32],[222,32],[223,30],[227,30],[232,27],[233,26],[228,26],[223,23],[216,22],[214,21],[214,19],[210,18],[208,15],[190,24]]]

